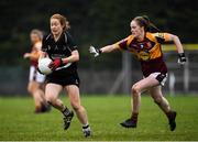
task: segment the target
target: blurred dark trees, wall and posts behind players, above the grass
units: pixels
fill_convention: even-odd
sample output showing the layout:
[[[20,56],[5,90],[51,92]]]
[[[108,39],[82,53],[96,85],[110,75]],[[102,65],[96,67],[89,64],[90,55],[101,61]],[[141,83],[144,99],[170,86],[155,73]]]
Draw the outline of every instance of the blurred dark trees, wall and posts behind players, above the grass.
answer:
[[[177,65],[173,45],[164,45],[169,76],[167,94],[198,91],[198,1],[197,0],[1,0],[0,1],[0,95],[26,95],[31,51],[30,31],[50,32],[50,18],[66,15],[80,53],[81,92],[129,94],[142,78],[139,62],[128,53],[112,53],[94,58],[89,45],[112,44],[130,34],[130,21],[146,14],[164,32],[178,35],[188,63]]]

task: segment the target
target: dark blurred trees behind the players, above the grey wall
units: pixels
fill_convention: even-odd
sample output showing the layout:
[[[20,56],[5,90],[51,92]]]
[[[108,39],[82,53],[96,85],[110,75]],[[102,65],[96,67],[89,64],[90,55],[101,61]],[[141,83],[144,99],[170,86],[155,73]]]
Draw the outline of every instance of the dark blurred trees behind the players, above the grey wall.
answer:
[[[130,21],[136,15],[148,15],[158,29],[177,34],[183,43],[198,43],[197,9],[197,0],[1,0],[0,65],[28,65],[22,55],[31,47],[30,31],[50,32],[48,22],[54,13],[69,20],[82,66],[88,67],[91,65],[88,46],[124,39],[130,34]],[[113,68],[118,56],[121,57],[116,53],[101,59]]]

